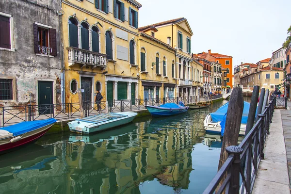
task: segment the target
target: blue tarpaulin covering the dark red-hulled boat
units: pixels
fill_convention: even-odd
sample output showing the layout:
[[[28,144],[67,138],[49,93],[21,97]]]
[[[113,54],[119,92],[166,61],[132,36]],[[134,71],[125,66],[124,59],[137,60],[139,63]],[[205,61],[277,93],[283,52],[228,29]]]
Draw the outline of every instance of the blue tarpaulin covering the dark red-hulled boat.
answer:
[[[57,122],[54,118],[49,118],[46,120],[39,120],[39,121],[25,121],[22,123],[18,123],[12,126],[0,128],[2,130],[7,130],[11,133],[13,133],[14,136],[24,134],[26,132],[42,128],[44,126],[50,125]]]

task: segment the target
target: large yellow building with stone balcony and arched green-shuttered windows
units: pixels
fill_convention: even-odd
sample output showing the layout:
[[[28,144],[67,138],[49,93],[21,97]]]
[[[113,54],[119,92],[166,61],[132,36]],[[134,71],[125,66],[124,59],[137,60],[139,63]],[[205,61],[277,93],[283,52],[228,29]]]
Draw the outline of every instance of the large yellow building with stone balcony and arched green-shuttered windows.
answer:
[[[135,99],[138,10],[135,0],[62,1],[65,102]],[[102,100],[102,101],[103,101]]]

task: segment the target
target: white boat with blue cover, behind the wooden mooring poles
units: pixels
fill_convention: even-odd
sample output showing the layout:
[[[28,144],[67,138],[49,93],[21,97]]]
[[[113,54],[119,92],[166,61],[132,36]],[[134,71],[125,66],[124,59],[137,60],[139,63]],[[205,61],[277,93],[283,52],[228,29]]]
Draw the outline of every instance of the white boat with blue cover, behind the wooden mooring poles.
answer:
[[[245,134],[245,128],[248,118],[248,113],[250,110],[250,103],[243,102],[243,111],[242,111],[242,122],[241,122],[241,129],[240,135]],[[206,116],[203,121],[204,127],[206,132],[224,134],[225,122],[226,122],[226,113],[228,109],[228,102],[221,106],[216,112],[210,113]]]

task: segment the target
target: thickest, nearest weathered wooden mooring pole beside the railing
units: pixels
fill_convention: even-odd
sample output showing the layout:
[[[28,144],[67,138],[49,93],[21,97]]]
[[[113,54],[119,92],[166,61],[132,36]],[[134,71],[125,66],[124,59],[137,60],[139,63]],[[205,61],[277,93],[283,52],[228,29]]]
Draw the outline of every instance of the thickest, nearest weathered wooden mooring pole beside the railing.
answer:
[[[221,152],[220,152],[218,170],[222,167],[222,165],[224,164],[224,162],[226,161],[228,157],[228,154],[226,152],[226,147],[237,146],[238,144],[239,134],[240,134],[240,129],[241,129],[241,122],[242,122],[242,111],[243,111],[242,88],[235,87],[232,90],[229,103],[228,103],[225,133],[224,133]],[[220,181],[219,187],[222,185],[225,178],[223,178]]]

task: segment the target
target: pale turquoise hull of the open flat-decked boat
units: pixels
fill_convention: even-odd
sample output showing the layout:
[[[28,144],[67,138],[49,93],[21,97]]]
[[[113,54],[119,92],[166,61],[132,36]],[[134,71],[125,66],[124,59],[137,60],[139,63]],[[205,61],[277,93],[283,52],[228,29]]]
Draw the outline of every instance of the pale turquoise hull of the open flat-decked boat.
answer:
[[[106,129],[112,129],[118,126],[122,126],[122,125],[126,125],[130,122],[133,121],[133,119],[135,118],[135,116],[137,115],[137,113],[120,113],[120,114],[127,114],[126,117],[121,117],[121,118],[117,118],[114,120],[109,120],[106,122],[102,122],[102,123],[98,123],[95,125],[89,124],[86,125],[84,124],[84,126],[80,126],[78,125],[78,122],[80,121],[72,121],[69,122],[69,129],[72,132],[76,132],[76,133],[85,133],[85,134],[89,134],[89,133],[94,133],[94,132],[98,132],[98,131],[102,131],[102,130],[106,130]],[[78,127],[79,126],[79,127]]]

